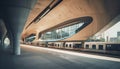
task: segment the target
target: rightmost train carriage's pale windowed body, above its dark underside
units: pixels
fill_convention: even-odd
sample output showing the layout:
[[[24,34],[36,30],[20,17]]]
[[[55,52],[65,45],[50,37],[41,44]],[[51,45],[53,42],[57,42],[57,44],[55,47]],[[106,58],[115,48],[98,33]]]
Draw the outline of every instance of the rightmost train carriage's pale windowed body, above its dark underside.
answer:
[[[85,42],[84,49],[120,51],[120,43],[112,42]]]

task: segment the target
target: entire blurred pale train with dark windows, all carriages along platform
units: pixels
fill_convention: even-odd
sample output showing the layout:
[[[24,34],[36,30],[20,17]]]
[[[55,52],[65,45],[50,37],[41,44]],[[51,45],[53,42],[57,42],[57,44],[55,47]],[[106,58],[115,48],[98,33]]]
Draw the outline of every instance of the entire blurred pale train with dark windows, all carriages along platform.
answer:
[[[50,47],[50,48],[61,48],[61,49],[84,49],[92,51],[120,51],[120,43],[111,42],[45,42],[45,41],[33,41],[26,44]]]

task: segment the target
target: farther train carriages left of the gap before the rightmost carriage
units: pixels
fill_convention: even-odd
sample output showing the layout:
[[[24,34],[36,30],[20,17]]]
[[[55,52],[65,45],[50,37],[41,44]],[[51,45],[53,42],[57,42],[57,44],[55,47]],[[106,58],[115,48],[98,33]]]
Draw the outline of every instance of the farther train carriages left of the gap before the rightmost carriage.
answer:
[[[62,49],[80,49],[84,47],[81,42],[33,41],[33,42],[25,42],[24,44],[41,46],[41,47],[50,47],[50,48],[62,48]]]

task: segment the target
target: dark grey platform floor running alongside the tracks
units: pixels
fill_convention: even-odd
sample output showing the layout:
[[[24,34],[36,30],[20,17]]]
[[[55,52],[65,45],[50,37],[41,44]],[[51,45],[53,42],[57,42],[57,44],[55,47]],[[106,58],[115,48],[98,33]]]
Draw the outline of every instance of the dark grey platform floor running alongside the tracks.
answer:
[[[120,69],[119,58],[110,58],[110,61],[70,52],[74,54],[72,55],[69,51],[55,52],[47,49],[23,45],[20,56],[0,53],[0,69]]]

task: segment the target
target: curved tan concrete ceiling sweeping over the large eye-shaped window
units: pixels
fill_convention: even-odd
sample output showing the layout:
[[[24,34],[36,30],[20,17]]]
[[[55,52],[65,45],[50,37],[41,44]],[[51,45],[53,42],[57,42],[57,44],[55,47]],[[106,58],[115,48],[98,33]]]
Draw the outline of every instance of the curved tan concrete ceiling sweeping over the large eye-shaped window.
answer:
[[[66,40],[86,40],[120,14],[120,0],[63,0],[37,23],[26,26],[41,13],[52,0],[38,0],[29,14],[22,37],[54,27],[64,21],[90,16],[93,22]]]

